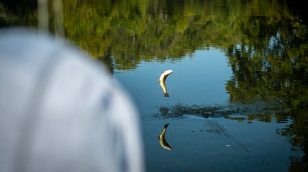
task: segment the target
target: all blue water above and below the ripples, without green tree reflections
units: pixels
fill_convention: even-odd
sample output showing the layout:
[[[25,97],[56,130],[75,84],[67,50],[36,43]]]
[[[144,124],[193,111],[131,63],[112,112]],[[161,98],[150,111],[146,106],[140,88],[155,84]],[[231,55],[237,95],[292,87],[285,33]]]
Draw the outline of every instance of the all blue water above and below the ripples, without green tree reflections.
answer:
[[[170,97],[159,85],[164,70]],[[159,107],[228,106],[226,82],[233,76],[224,52],[210,48],[172,61],[147,61],[135,70],[116,70],[140,111],[147,171],[286,171],[292,152],[287,138],[277,130],[292,123],[248,120],[242,113],[203,117],[181,114],[166,117]],[[274,114],[273,114],[274,115]],[[271,116],[271,115],[270,115]],[[169,123],[165,139],[172,150],[159,145],[158,136]]]

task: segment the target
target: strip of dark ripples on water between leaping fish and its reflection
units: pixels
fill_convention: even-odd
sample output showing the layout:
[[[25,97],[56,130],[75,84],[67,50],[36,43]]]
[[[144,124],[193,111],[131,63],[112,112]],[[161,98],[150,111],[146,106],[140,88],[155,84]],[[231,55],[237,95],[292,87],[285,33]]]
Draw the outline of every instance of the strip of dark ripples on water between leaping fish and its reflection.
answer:
[[[252,120],[272,122],[275,115],[276,122],[287,121],[287,109],[279,102],[255,102],[254,104],[229,104],[229,105],[183,105],[159,106],[158,118],[185,118],[188,115],[196,117],[224,117],[236,121]],[[277,116],[277,117],[276,117]]]

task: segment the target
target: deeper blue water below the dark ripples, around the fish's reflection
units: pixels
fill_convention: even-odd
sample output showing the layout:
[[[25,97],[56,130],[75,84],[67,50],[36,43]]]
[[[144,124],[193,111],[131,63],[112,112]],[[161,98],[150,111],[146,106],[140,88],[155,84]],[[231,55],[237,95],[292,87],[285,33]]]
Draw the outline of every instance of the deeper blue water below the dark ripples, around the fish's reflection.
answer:
[[[171,151],[157,139],[167,122]],[[148,171],[286,171],[289,156],[296,156],[286,138],[276,134],[287,124],[238,123],[222,117],[143,123]]]

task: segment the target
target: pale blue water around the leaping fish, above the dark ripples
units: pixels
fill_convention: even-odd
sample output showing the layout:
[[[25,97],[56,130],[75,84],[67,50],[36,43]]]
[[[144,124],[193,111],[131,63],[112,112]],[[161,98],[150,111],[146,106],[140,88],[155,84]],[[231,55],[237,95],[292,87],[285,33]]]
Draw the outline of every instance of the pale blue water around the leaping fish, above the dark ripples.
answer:
[[[167,98],[158,83],[165,70],[173,70],[166,78]],[[212,48],[177,61],[143,62],[133,71],[116,70],[114,76],[129,90],[141,113],[149,114],[168,104],[226,104],[229,94],[224,87],[232,72],[224,53]]]

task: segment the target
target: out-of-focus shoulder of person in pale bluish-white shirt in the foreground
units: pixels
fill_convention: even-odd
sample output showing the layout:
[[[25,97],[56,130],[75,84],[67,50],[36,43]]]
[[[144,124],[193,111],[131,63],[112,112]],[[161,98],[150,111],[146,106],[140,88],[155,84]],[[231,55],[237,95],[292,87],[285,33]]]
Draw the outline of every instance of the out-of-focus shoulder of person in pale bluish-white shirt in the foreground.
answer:
[[[138,111],[86,52],[2,29],[0,80],[0,171],[144,171]]]

